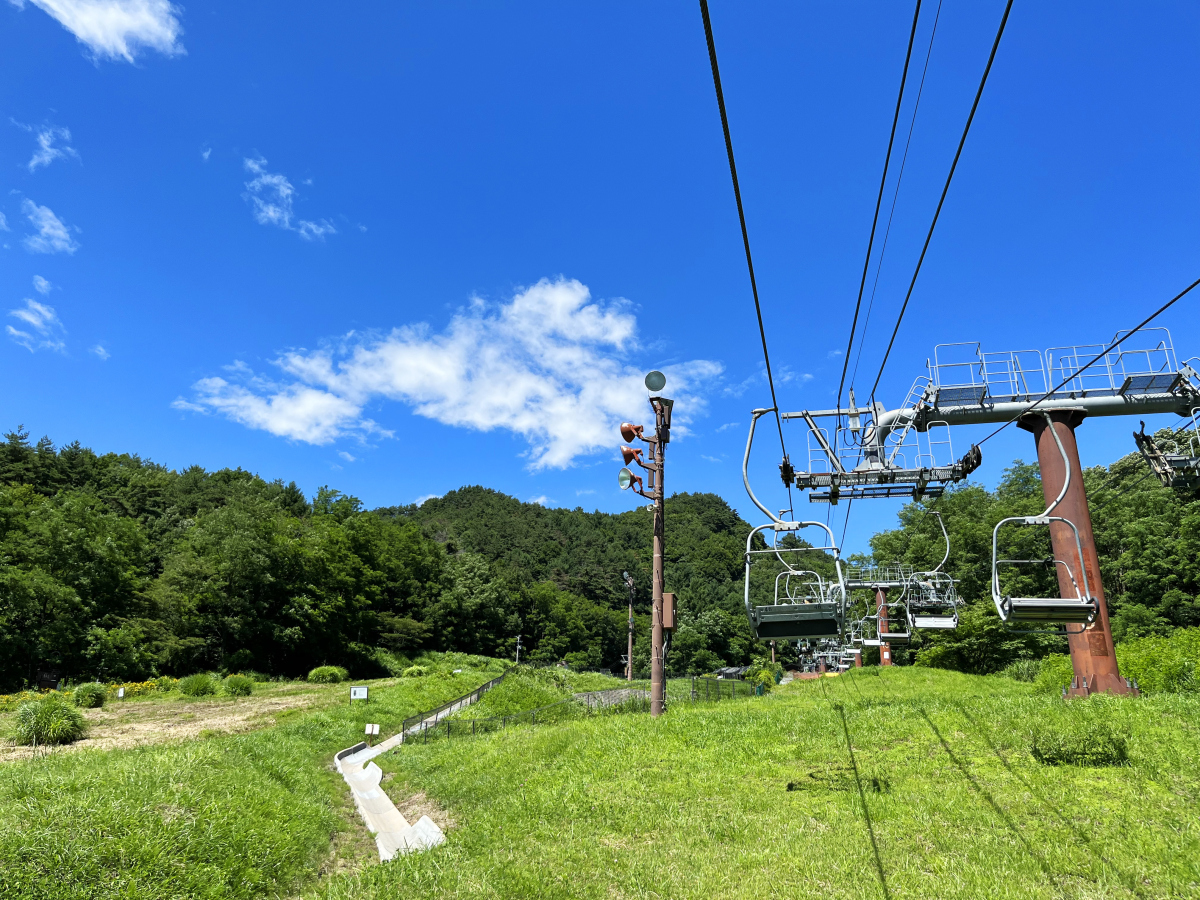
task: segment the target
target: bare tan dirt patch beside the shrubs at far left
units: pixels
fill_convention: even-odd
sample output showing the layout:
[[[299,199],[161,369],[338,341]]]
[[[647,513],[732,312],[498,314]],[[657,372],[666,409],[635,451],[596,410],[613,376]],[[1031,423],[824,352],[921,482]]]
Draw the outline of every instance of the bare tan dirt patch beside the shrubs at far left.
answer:
[[[118,750],[144,744],[187,740],[209,734],[235,734],[275,725],[276,716],[293,709],[328,706],[328,691],[308,685],[287,685],[264,696],[241,700],[143,701],[110,703],[88,709],[88,737],[61,748],[38,748],[36,754],[77,750]],[[0,762],[29,760],[29,746],[0,746]]]

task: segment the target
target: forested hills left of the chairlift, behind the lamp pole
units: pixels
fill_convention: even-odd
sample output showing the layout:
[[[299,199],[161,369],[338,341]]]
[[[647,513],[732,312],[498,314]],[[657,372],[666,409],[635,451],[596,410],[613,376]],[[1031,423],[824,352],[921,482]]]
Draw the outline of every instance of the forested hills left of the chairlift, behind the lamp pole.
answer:
[[[668,499],[673,665],[749,658],[749,526],[713,494]],[[18,430],[0,444],[0,691],[48,678],[197,670],[359,674],[426,648],[619,667],[622,572],[649,595],[649,514],[546,510],[485,488],[372,512],[241,469],[167,469]],[[638,632],[644,635],[644,622]],[[647,655],[643,637],[637,656]]]

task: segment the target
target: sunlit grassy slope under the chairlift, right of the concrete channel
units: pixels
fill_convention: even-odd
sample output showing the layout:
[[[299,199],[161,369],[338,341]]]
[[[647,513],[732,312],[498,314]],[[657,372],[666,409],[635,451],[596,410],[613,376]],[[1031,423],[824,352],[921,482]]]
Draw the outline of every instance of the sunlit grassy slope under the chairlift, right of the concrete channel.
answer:
[[[660,721],[403,748],[379,760],[392,794],[407,781],[460,827],[436,852],[314,893],[1200,896],[1200,700],[1090,701],[1129,727],[1130,764],[1048,768],[1030,756],[1028,731],[1079,706],[1001,678],[872,671],[677,704]]]

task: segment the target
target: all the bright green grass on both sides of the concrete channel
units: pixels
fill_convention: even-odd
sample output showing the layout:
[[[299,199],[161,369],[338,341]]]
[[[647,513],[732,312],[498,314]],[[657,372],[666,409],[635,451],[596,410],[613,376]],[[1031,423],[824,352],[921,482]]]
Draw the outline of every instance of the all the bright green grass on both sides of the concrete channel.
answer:
[[[1200,898],[1200,697],[1063,703],[922,668],[402,746],[385,787],[446,808],[448,842],[318,878],[361,827],[332,752],[498,673],[450,666],[262,732],[0,764],[0,895]],[[505,702],[536,698],[520,680]],[[1123,763],[1033,757],[1085,720]]]

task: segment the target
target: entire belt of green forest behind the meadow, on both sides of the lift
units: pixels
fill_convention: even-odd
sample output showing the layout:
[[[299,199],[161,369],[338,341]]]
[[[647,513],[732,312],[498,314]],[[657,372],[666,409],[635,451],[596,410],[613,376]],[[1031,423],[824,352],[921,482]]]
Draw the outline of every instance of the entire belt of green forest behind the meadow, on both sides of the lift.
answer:
[[[1178,436],[1175,436],[1178,438]],[[1184,440],[1186,444],[1186,440]],[[1200,500],[1146,478],[1129,455],[1085,473],[1117,640],[1200,625]],[[968,601],[955,632],[917,636],[899,661],[986,672],[1061,649],[998,623],[991,528],[1042,510],[1037,469],[996,491],[958,486],[931,505],[952,535],[949,571]],[[872,539],[880,563],[942,556],[926,508]],[[881,521],[881,524],[883,522]],[[707,672],[761,652],[742,612],[750,526],[715,494],[667,500],[666,586],[680,625],[668,666]],[[1015,529],[1009,558],[1045,558]],[[394,671],[421,649],[620,667],[626,592],[637,594],[635,664],[647,659],[650,514],[544,509],[485,487],[370,511],[322,488],[241,469],[167,469],[78,444],[0,444],[0,691],[50,677],[139,679],[197,670],[296,676],[331,662]],[[757,576],[758,572],[756,572]],[[770,572],[754,586],[770,594]],[[1022,588],[1052,595],[1048,570]],[[1038,595],[1032,593],[1030,595]]]

